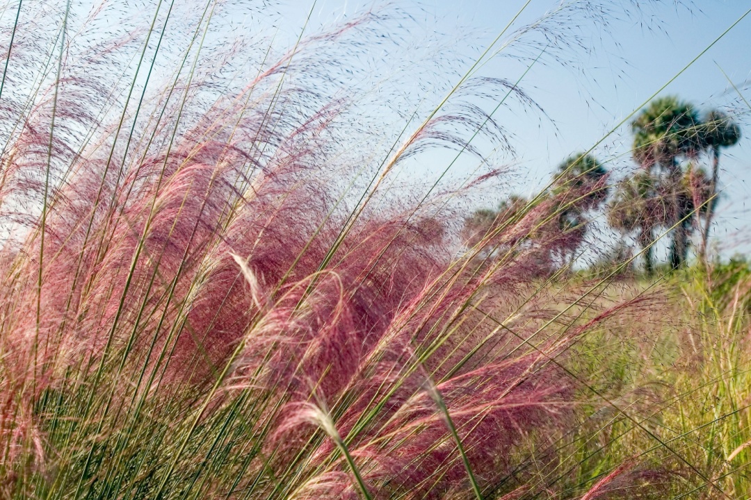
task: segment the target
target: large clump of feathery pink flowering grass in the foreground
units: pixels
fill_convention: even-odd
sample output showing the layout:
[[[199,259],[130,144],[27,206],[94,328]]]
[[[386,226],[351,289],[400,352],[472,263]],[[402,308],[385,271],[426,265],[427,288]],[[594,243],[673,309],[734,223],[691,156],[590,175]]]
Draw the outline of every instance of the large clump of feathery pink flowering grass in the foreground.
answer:
[[[468,131],[508,148],[475,100],[502,89],[532,106],[515,84],[472,66],[394,130],[368,43],[406,50],[380,37],[409,19],[397,9],[276,53],[222,29],[262,7],[16,7],[0,96],[4,498],[596,499],[663,477],[629,461],[569,488],[586,406],[572,349],[651,304],[603,301],[608,278],[559,289],[547,256],[569,235],[550,213],[571,200],[520,208],[468,248],[457,207],[502,169],[392,187],[436,148],[487,162]],[[583,43],[565,20],[593,9],[502,35]],[[392,76],[435,70],[420,64]],[[346,88],[352,70],[363,84]]]

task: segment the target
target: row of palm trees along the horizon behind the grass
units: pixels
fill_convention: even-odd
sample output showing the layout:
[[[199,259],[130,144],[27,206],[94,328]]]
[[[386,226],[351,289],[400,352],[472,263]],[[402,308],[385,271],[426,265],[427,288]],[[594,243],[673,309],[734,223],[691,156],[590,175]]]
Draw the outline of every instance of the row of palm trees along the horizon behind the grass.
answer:
[[[661,97],[631,124],[634,175],[611,185],[610,172],[592,154],[573,154],[559,164],[544,192],[532,199],[510,196],[494,209],[474,211],[464,220],[463,239],[492,257],[526,248],[542,268],[575,259],[588,222],[605,209],[609,225],[640,247],[644,271],[654,271],[653,245],[668,232],[670,264],[685,265],[698,232],[698,259],[707,259],[707,241],[716,210],[719,160],[723,148],[740,140],[740,127],[725,112],[701,114],[677,97]],[[710,172],[701,165],[707,158]],[[535,223],[516,237],[505,228],[535,213]]]

